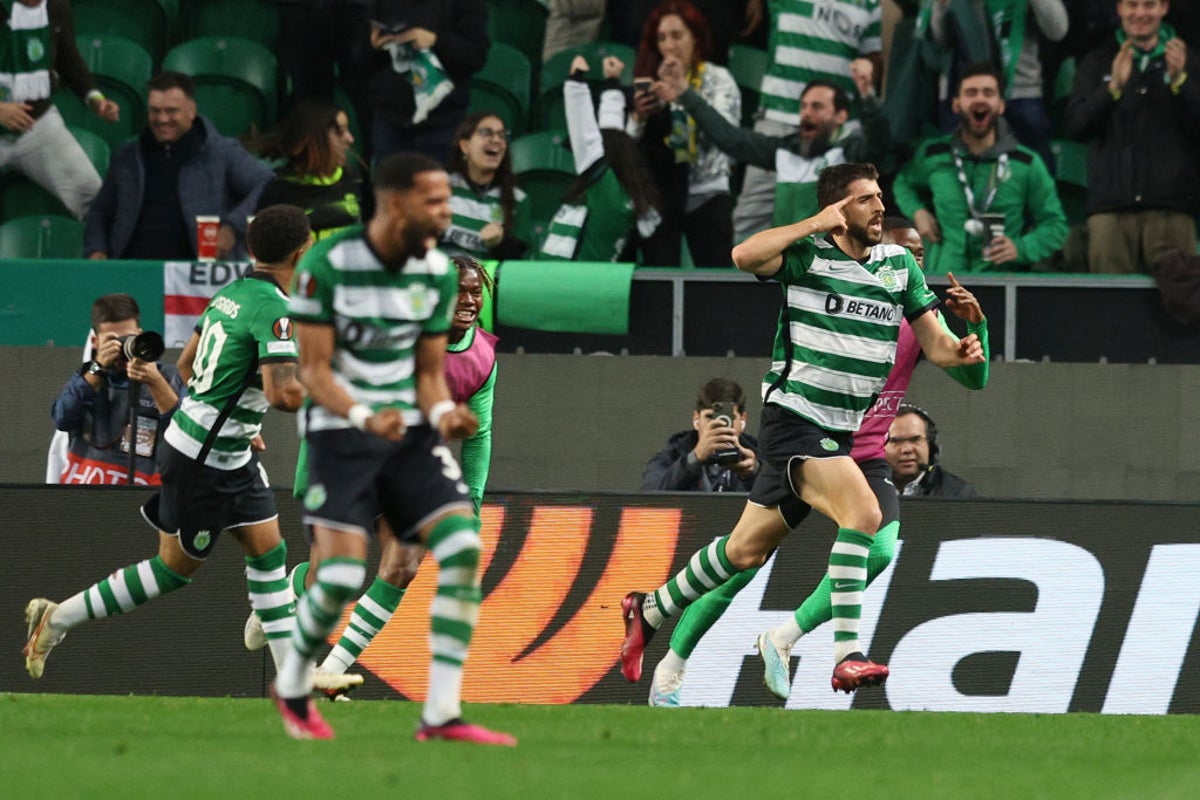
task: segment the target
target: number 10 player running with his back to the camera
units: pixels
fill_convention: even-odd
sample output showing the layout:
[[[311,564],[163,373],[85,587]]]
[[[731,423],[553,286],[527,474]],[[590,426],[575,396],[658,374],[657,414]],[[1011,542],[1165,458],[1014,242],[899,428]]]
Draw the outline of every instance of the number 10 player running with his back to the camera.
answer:
[[[246,553],[251,606],[274,634],[272,655],[282,656],[281,645],[295,627],[287,545],[252,440],[269,408],[295,411],[304,399],[287,287],[310,241],[308,219],[299,209],[272,206],[254,217],[250,245],[257,267],[209,302],[176,365],[190,393],[163,434],[162,489],[142,507],[160,531],[158,553],[62,603],[31,600],[24,648],[30,676],[42,676],[47,656],[71,628],[188,585],[223,530]]]

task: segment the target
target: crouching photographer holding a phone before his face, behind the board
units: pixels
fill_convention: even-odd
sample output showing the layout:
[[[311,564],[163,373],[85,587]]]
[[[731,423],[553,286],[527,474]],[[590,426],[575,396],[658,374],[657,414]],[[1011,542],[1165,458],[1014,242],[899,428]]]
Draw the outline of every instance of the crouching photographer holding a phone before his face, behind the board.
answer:
[[[749,492],[758,471],[758,440],[745,433],[742,386],[713,378],[701,386],[691,431],[680,431],[646,465],[642,491]]]

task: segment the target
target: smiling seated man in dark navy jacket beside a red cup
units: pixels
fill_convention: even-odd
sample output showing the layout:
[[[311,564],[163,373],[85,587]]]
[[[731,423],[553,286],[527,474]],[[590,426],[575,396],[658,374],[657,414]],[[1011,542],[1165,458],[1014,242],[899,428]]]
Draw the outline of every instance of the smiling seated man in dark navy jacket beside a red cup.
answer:
[[[221,218],[217,258],[244,258],[241,237],[271,170],[196,110],[192,79],[148,84],[149,125],[113,154],[88,212],[89,258],[194,259],[198,216]]]

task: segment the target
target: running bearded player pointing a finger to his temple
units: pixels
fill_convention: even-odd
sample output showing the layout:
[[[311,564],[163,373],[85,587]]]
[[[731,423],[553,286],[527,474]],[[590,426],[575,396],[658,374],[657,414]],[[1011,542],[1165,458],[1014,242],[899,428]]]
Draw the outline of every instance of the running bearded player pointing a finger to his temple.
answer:
[[[974,333],[959,341],[938,324],[937,299],[912,254],[878,243],[883,201],[874,166],[826,168],[817,201],[816,216],[755,234],[733,248],[738,269],[774,278],[785,290],[763,380],[763,468],[728,536],[692,555],[656,591],[625,596],[620,662],[628,680],[641,678],[646,643],[667,616],[761,566],[808,507],[839,528],[828,572],[835,626],[832,686],[852,692],[887,680],[888,668],[868,660],[858,644],[868,554],[882,515],[851,458],[851,434],[883,387],[904,319],[940,367],[982,363],[984,354]],[[780,697],[787,696],[788,654],[800,634],[793,616],[758,637],[767,685]]]

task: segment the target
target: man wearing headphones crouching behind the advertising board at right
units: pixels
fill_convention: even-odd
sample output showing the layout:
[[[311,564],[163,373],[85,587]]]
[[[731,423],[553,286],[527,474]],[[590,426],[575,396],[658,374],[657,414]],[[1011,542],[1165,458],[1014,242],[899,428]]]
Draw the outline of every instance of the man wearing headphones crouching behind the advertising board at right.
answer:
[[[937,426],[924,409],[907,403],[900,407],[884,445],[892,481],[906,497],[976,497],[973,486],[948,473],[937,463]]]

